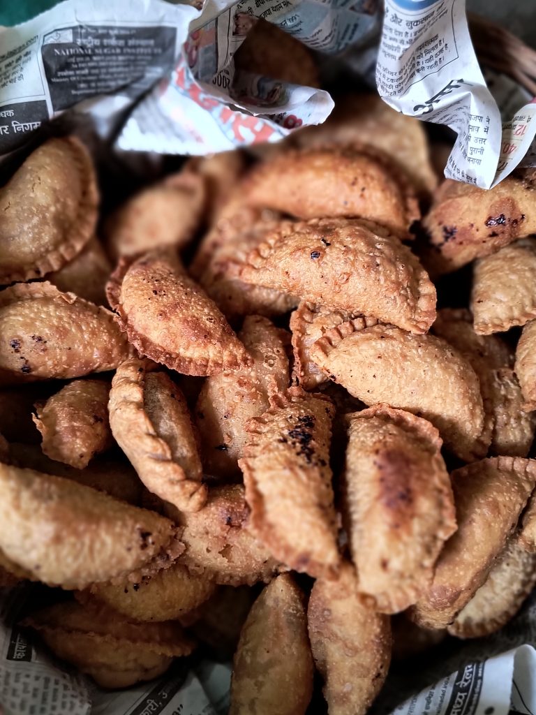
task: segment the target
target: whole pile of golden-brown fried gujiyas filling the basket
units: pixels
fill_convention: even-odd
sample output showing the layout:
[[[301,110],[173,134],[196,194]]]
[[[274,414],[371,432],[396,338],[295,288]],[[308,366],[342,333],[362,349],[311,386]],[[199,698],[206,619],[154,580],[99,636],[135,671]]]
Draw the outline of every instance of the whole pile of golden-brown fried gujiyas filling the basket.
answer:
[[[430,154],[354,96],[106,216],[74,137],[0,189],[1,583],[55,589],[21,623],[59,659],[119,688],[208,648],[232,715],[303,714],[315,671],[360,715],[392,656],[520,609],[536,173]]]

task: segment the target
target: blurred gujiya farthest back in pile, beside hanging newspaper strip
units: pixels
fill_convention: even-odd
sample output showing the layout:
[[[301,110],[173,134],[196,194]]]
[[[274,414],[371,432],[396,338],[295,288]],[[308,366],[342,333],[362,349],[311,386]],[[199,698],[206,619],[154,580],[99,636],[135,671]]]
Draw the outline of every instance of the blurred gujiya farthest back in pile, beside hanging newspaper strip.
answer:
[[[422,122],[396,112],[377,94],[346,94],[323,124],[305,127],[289,137],[299,147],[326,144],[365,144],[381,149],[407,173],[419,194],[437,186],[430,162],[427,134]]]

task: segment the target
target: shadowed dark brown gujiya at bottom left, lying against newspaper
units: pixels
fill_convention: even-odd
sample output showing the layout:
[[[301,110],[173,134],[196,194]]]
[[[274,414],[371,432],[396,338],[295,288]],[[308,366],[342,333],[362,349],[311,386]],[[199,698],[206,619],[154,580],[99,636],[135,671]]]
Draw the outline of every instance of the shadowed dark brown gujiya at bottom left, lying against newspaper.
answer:
[[[56,603],[21,622],[39,633],[51,651],[90,675],[102,688],[127,688],[167,671],[187,656],[194,641],[177,621],[132,623],[108,608]]]

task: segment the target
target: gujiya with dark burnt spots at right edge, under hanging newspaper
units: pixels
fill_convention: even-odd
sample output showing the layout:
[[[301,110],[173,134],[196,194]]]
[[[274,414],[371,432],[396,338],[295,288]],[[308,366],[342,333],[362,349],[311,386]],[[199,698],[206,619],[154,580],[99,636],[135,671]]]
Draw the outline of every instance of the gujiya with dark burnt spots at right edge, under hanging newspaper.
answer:
[[[448,273],[536,231],[534,171],[503,179],[493,189],[445,179],[423,225],[429,235],[425,264]]]

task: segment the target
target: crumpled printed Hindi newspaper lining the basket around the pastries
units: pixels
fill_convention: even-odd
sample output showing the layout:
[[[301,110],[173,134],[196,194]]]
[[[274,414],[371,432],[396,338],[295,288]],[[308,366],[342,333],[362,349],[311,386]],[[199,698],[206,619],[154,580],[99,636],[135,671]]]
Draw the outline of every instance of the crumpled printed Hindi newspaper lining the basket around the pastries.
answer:
[[[379,94],[394,109],[445,124],[457,141],[445,174],[489,188],[534,165],[534,100],[502,77],[487,88],[464,0],[66,0],[0,29],[0,156],[24,147],[49,119],[86,114],[117,149],[207,154],[274,142],[332,111],[327,92],[242,73],[233,56],[257,18],[322,54],[359,53],[379,37]],[[367,64],[368,63],[368,64]],[[119,122],[119,124],[118,124]],[[75,122],[76,125],[76,122]],[[118,128],[119,127],[119,128]],[[532,145],[532,147],[531,147]],[[0,592],[2,715],[219,715],[230,668],[182,661],[157,681],[107,692],[66,670],[17,625],[31,587]],[[411,674],[396,669],[374,712],[536,713],[536,600],[502,631],[460,644]],[[432,684],[432,685],[431,685]]]

